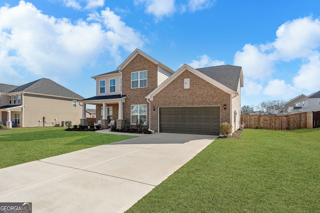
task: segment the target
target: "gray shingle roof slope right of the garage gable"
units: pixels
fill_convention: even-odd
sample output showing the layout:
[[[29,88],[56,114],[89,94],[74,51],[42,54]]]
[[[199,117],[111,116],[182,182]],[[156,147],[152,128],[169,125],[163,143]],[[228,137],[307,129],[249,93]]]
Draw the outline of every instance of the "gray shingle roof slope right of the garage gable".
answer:
[[[220,65],[196,68],[196,70],[227,86],[233,91],[237,90],[241,66]]]

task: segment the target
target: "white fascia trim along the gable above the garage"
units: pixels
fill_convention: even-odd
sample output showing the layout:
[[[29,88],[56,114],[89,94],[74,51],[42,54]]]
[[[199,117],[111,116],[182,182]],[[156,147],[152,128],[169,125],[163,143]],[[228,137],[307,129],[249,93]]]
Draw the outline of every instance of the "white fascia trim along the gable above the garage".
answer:
[[[201,77],[202,79],[206,80],[207,82],[211,83],[212,85],[218,87],[219,89],[225,91],[228,94],[237,94],[237,91],[233,91],[232,89],[228,88],[222,83],[219,83],[218,81],[212,79],[211,77],[199,72],[198,70],[191,67],[190,65],[183,64],[171,76],[169,76],[166,80],[164,80],[158,87],[156,87],[153,91],[151,91],[148,95],[146,95],[145,98],[149,98],[150,100],[152,100],[154,95],[156,95],[159,91],[161,91],[166,85],[168,85],[172,80],[174,80],[177,76],[179,76],[185,70],[188,70],[193,74]]]

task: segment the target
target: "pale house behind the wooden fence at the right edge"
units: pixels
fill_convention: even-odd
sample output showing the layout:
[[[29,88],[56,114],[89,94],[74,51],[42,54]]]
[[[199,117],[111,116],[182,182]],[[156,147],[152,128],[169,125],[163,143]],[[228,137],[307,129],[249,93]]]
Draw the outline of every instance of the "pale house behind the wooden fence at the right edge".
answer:
[[[295,101],[294,106],[288,108],[288,113],[305,111],[320,111],[320,90]]]

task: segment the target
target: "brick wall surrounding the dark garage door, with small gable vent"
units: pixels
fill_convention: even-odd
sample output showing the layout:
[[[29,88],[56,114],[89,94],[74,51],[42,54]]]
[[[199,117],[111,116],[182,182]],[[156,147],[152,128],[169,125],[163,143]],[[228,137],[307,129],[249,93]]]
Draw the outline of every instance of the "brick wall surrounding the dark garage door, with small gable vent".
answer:
[[[184,78],[190,78],[190,88],[184,89]],[[158,130],[158,107],[161,106],[220,106],[220,123],[230,122],[230,95],[185,70],[157,93],[151,102],[151,129]],[[226,104],[226,110],[223,105]]]

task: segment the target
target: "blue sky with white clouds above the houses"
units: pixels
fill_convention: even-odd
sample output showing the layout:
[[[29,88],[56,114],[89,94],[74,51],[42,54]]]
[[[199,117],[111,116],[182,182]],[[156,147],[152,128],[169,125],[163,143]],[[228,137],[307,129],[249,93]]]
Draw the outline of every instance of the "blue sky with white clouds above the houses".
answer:
[[[139,48],[173,70],[242,66],[241,104],[320,90],[319,0],[1,0],[0,83],[83,97]]]

